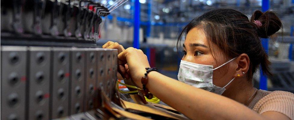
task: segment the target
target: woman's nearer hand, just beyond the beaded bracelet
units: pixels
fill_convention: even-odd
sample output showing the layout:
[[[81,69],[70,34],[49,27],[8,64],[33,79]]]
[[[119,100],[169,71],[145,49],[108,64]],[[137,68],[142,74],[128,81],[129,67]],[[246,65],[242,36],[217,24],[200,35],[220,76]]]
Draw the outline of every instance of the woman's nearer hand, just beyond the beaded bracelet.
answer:
[[[125,64],[128,64],[128,69]],[[129,47],[118,54],[118,71],[122,76],[130,76],[136,86],[142,88],[141,78],[150,67],[147,56],[141,49]],[[126,78],[128,79],[128,78]]]

